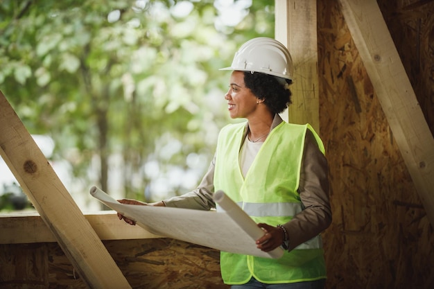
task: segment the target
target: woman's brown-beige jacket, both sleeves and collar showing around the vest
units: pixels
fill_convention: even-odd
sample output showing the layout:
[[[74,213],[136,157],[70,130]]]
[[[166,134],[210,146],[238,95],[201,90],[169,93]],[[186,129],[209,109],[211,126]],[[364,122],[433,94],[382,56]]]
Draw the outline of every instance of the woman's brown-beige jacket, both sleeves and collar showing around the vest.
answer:
[[[275,116],[271,129],[282,119]],[[245,136],[248,134],[248,124]],[[209,210],[215,208],[214,194],[214,159],[196,190],[184,195],[164,200],[167,207]],[[298,188],[304,210],[292,220],[283,224],[289,235],[289,249],[310,240],[327,229],[331,224],[331,208],[329,204],[329,180],[327,159],[324,157],[313,134],[308,130],[304,143],[300,185]]]

